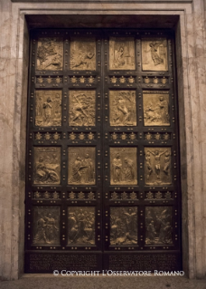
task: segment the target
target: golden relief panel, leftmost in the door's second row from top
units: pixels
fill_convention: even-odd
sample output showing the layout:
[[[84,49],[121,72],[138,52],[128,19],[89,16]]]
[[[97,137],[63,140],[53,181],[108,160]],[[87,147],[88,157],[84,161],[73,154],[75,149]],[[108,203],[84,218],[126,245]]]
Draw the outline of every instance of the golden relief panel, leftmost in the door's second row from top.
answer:
[[[61,126],[61,91],[36,91],[35,126]]]

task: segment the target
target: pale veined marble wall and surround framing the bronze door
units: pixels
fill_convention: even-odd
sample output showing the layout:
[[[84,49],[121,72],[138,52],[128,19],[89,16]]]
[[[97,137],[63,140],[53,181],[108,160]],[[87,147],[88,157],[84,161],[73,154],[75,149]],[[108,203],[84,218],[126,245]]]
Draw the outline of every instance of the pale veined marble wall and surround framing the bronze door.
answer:
[[[206,117],[205,13],[203,0],[13,1],[1,0],[1,173],[0,276],[23,274],[24,174],[28,77],[28,28],[25,15],[159,15],[179,17],[176,56],[183,192],[183,270],[206,276]],[[38,26],[43,25],[41,18]],[[36,24],[37,25],[37,24]],[[145,23],[146,25],[146,23]],[[33,23],[35,26],[35,23]]]

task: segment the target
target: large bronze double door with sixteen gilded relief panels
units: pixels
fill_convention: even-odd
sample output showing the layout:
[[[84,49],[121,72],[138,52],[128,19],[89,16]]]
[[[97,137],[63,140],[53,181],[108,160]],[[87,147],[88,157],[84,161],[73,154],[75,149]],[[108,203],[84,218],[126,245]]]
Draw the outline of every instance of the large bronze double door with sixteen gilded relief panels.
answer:
[[[31,34],[25,272],[181,269],[173,31]]]

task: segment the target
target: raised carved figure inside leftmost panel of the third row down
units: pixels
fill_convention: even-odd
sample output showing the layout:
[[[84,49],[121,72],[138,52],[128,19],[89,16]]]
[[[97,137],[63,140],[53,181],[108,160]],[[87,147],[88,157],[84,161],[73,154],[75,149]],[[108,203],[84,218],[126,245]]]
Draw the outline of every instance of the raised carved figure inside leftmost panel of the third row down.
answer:
[[[60,178],[56,172],[56,168],[59,167],[57,164],[50,164],[43,161],[40,157],[39,161],[36,162],[35,166],[35,181],[40,183],[58,183]]]

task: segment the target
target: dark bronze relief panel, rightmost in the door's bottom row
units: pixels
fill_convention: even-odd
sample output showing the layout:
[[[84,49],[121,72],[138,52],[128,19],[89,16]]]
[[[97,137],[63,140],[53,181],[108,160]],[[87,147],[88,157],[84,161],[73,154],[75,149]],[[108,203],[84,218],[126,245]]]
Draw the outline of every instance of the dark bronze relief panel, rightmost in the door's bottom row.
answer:
[[[145,244],[173,244],[172,207],[145,207]]]

